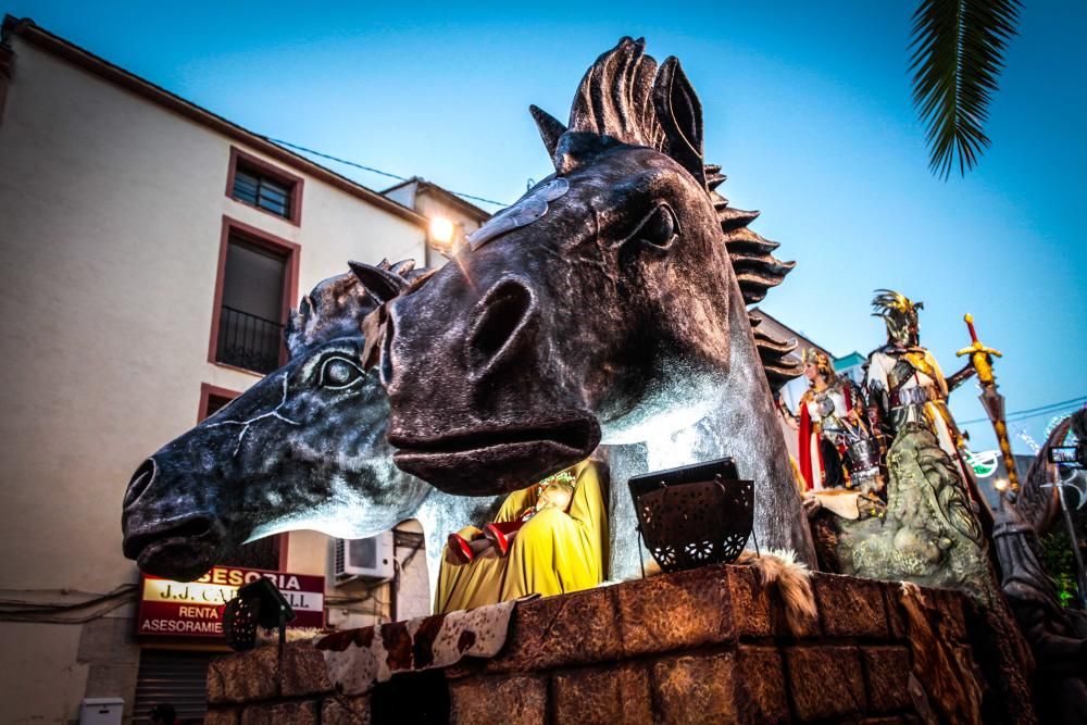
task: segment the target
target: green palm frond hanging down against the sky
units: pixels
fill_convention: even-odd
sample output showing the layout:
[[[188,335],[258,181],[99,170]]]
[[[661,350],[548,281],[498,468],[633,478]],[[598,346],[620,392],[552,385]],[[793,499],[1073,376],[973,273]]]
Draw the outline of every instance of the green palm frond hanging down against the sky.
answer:
[[[913,14],[913,103],[941,178],[957,160],[965,175],[989,146],[984,125],[1019,9],[1019,0],[921,0]]]

